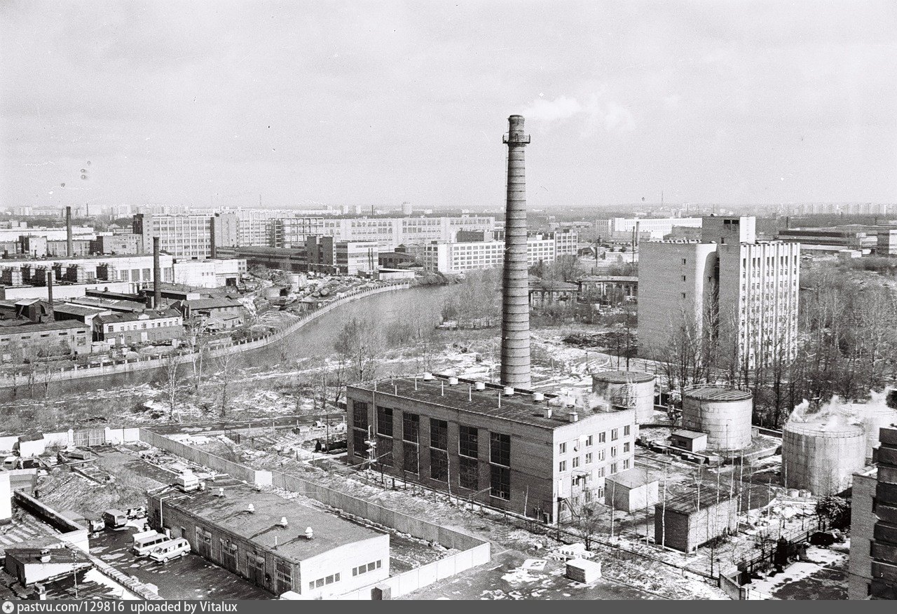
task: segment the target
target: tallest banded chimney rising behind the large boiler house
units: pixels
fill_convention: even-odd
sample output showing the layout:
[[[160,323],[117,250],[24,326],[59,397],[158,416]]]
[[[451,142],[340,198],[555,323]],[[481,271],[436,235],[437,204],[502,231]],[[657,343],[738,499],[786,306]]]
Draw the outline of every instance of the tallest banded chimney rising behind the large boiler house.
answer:
[[[501,383],[529,388],[529,270],[527,267],[527,180],[523,116],[508,118],[508,202],[505,208],[504,269],[501,278]]]

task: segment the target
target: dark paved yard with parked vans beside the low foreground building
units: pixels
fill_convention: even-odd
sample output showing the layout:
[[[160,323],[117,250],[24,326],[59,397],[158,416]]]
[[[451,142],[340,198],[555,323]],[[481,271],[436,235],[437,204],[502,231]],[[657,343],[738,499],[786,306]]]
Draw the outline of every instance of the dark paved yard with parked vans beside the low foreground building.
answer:
[[[129,549],[135,531],[133,527],[102,531],[91,538],[91,554],[141,582],[155,584],[163,599],[275,599],[270,592],[193,553],[164,565],[135,557]]]

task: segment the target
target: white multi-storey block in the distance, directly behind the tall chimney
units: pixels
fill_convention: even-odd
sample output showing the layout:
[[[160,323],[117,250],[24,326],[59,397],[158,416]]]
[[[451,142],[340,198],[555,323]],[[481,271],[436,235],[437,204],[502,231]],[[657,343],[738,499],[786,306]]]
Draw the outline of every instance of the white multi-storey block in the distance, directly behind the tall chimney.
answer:
[[[504,263],[504,251],[504,241],[433,241],[422,247],[423,268],[451,274],[501,267]],[[541,234],[527,238],[527,263],[530,267],[539,262],[553,262],[554,259],[553,238]]]

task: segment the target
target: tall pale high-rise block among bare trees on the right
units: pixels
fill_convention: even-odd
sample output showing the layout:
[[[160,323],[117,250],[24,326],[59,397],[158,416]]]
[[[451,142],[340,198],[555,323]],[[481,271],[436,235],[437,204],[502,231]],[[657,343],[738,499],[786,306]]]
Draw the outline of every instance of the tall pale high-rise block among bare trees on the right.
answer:
[[[749,216],[704,218],[702,236],[641,244],[640,354],[666,355],[685,331],[747,369],[794,357],[800,245],[755,241]]]

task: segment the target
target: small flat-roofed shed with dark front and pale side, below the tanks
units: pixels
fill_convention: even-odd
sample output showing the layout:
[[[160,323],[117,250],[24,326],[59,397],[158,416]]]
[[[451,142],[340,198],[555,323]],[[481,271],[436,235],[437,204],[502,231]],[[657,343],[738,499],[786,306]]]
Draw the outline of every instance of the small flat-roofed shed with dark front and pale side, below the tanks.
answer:
[[[654,508],[654,539],[682,552],[694,552],[710,539],[738,530],[738,493],[701,488]]]

